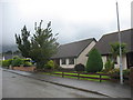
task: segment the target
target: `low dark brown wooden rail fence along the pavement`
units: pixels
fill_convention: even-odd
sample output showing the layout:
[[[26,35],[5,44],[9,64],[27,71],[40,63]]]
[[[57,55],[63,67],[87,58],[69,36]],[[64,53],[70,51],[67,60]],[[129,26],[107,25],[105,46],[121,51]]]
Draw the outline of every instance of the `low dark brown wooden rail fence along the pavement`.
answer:
[[[75,79],[94,79],[94,80],[99,80],[100,82],[102,82],[103,80],[120,82],[120,78],[119,78],[120,76],[112,76],[108,73],[84,73],[84,72],[73,72],[73,71],[58,71],[58,73],[54,71],[47,71],[47,72],[49,72],[50,74],[59,74],[62,78],[74,77]],[[115,77],[115,78],[111,78],[111,77]],[[124,83],[127,84],[130,83],[130,76],[124,77]]]

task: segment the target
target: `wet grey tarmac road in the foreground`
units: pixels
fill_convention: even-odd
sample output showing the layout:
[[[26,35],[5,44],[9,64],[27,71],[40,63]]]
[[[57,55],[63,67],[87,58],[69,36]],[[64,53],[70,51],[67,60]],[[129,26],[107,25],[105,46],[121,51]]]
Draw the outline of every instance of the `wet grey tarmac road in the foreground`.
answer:
[[[2,98],[105,98],[105,97],[57,84],[51,84],[44,81],[3,71]]]

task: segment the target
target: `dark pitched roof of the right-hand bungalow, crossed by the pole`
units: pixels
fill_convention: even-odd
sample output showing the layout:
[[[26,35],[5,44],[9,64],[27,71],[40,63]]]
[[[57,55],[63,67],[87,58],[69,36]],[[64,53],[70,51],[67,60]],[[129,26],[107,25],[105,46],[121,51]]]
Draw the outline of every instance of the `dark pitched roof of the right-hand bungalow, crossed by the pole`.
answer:
[[[127,29],[121,31],[121,40],[123,43],[126,43],[127,52],[133,51],[133,29]],[[119,41],[119,33],[113,32],[109,34],[104,34],[99,42],[95,44],[101,54],[109,54],[111,53],[111,46],[110,43]]]

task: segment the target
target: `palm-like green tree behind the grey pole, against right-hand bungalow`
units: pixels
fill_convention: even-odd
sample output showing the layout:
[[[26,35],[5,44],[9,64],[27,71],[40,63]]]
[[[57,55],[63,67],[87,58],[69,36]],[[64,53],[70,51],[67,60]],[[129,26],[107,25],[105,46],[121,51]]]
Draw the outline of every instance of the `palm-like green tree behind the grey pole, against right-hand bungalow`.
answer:
[[[122,49],[122,54],[125,54],[126,44],[122,43],[121,49]],[[111,43],[111,53],[112,53],[113,61],[115,61],[116,57],[120,56],[120,43],[119,42]]]

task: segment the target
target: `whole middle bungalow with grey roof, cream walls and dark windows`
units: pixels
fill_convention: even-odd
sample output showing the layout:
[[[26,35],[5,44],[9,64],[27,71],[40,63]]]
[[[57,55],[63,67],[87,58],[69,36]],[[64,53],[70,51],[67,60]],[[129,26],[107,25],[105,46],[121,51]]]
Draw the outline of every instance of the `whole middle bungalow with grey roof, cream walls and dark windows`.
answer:
[[[76,41],[68,44],[61,44],[57,54],[52,59],[62,68],[74,68],[75,64],[85,66],[88,52],[95,46],[94,38]]]

